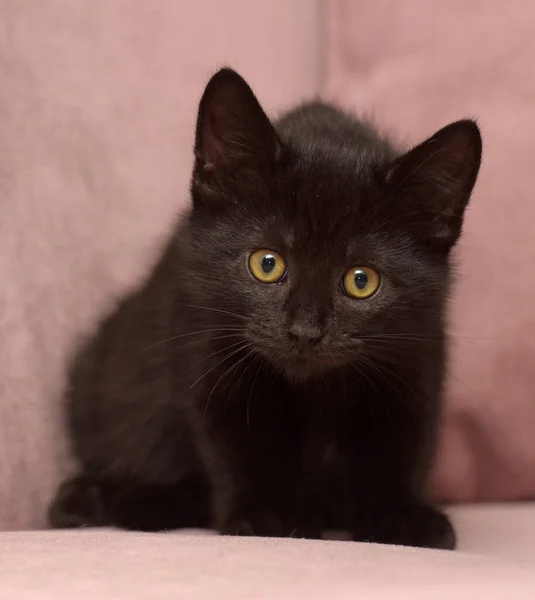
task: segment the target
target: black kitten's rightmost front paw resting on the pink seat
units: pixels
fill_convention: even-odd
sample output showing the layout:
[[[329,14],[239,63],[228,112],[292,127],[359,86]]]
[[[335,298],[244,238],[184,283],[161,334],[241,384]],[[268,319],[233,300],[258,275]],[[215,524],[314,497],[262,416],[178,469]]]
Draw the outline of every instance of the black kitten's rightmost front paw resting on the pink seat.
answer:
[[[455,531],[448,517],[423,504],[372,509],[357,516],[353,532],[356,541],[453,550]]]

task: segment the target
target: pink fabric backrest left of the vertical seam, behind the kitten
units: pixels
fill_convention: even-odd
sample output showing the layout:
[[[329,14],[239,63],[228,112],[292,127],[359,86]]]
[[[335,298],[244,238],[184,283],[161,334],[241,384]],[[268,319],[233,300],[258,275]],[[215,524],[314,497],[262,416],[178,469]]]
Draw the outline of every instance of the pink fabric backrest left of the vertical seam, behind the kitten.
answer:
[[[273,111],[318,88],[317,2],[0,0],[0,529],[44,524],[66,469],[69,352],[188,198],[223,63]]]

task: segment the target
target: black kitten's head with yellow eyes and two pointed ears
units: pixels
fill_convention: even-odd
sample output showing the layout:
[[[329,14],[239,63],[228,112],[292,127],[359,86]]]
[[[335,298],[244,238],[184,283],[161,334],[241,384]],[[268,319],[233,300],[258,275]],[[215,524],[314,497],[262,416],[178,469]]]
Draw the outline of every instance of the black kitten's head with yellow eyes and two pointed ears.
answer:
[[[274,125],[224,69],[201,100],[195,156],[196,296],[244,317],[226,324],[288,377],[400,359],[403,342],[441,336],[449,251],[481,160],[473,121],[399,154],[326,105]]]

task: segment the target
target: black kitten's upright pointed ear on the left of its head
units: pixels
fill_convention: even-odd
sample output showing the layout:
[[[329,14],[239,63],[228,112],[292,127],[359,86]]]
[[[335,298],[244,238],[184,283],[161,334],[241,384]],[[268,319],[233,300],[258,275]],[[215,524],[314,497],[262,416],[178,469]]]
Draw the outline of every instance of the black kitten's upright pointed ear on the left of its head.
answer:
[[[210,188],[225,174],[268,166],[279,140],[245,80],[221,69],[208,82],[199,105],[193,185]]]

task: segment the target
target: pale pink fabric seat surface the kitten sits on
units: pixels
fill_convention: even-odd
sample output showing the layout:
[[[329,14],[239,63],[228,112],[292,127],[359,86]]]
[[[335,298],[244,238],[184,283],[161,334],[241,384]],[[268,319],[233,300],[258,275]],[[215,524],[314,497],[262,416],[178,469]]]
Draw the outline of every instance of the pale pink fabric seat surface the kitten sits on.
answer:
[[[535,505],[452,516],[458,552],[189,532],[0,533],[0,598],[532,600]]]

